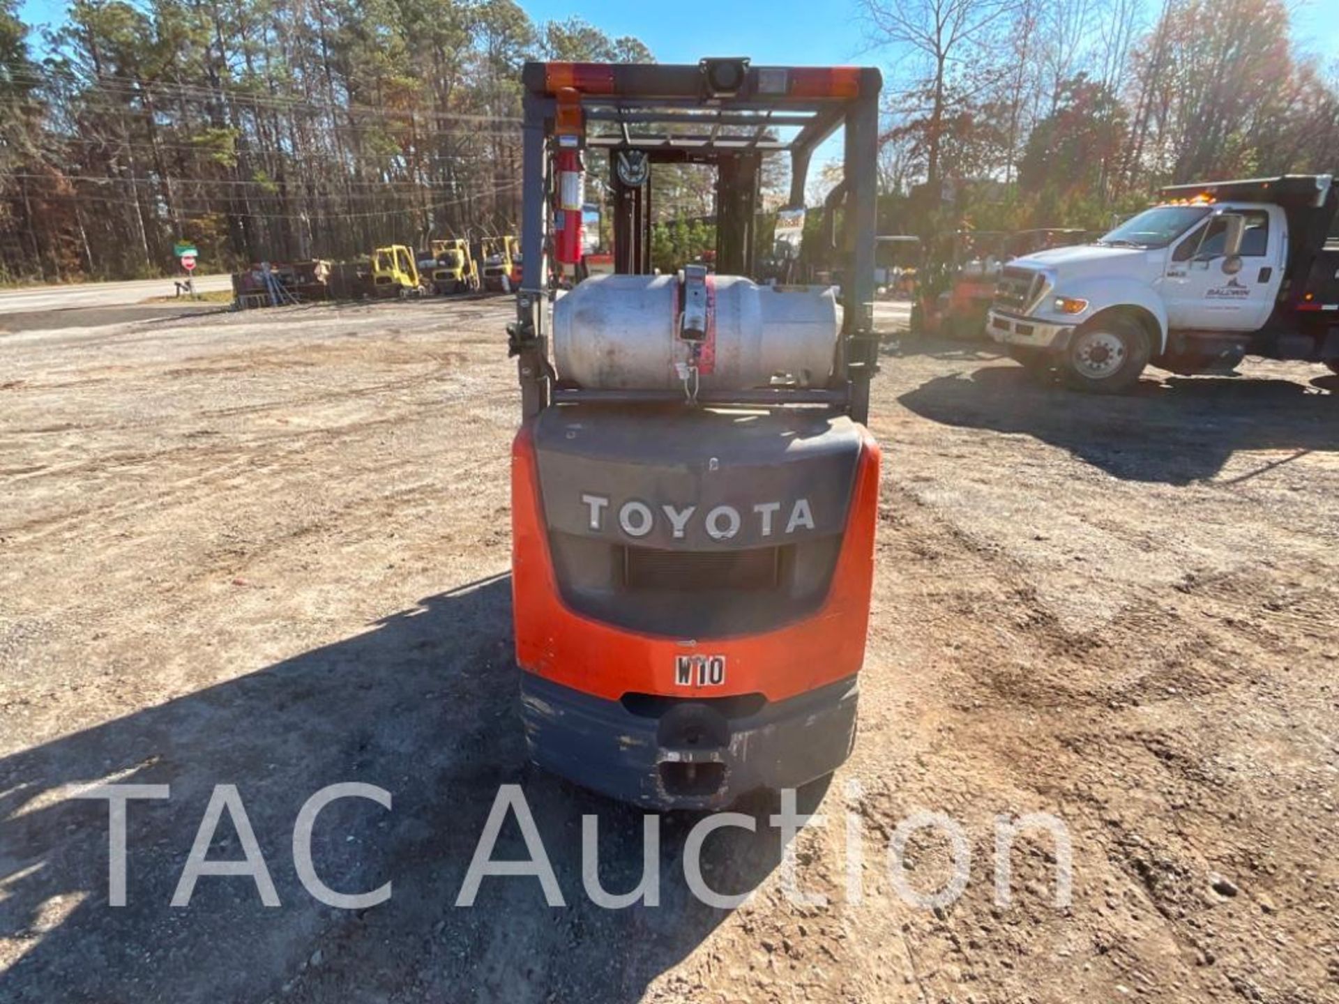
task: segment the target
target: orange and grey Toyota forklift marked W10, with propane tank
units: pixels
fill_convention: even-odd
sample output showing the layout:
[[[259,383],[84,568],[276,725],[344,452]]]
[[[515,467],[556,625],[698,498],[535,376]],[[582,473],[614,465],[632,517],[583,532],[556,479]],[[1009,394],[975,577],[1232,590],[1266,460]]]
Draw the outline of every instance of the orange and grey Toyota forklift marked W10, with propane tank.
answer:
[[[522,83],[507,332],[530,756],[651,809],[825,778],[856,738],[873,577],[880,74],[528,63]],[[802,206],[838,130],[840,285],[757,284],[763,158],[789,158]],[[586,158],[608,163],[613,270],[582,278]],[[651,178],[682,163],[716,170],[715,269],[655,274]]]

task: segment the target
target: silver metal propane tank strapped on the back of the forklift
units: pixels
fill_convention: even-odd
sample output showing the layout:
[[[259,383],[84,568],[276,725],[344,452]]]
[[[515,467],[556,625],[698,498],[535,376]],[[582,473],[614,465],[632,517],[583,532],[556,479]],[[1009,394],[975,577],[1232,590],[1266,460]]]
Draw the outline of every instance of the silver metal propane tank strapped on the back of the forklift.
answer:
[[[707,337],[680,337],[678,276],[590,276],[553,307],[558,378],[588,390],[675,390],[694,364],[702,390],[821,387],[833,372],[841,308],[832,286],[759,286],[708,277]]]

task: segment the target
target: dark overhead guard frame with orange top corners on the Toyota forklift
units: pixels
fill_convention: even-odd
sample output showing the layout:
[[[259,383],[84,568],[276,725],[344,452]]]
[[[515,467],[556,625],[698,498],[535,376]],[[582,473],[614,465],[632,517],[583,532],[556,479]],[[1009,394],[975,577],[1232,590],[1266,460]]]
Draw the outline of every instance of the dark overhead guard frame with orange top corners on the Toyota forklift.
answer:
[[[652,272],[651,175],[657,165],[690,163],[716,169],[716,272],[753,276],[763,157],[789,157],[786,207],[803,207],[814,153],[841,129],[844,178],[825,207],[829,220],[844,210],[845,221],[840,240],[825,234],[836,244],[833,276],[844,308],[832,375],[823,387],[789,394],[722,392],[719,398],[829,404],[864,423],[869,380],[877,369],[873,299],[881,83],[874,68],[759,67],[742,58],[703,59],[696,66],[526,63],[524,274],[517,321],[509,325],[525,418],[560,400],[596,394],[560,387],[550,363],[553,220],[562,201],[556,162],[561,151],[574,147],[608,154],[617,274]],[[655,394],[641,398],[649,402]],[[710,395],[703,403],[711,403]]]

